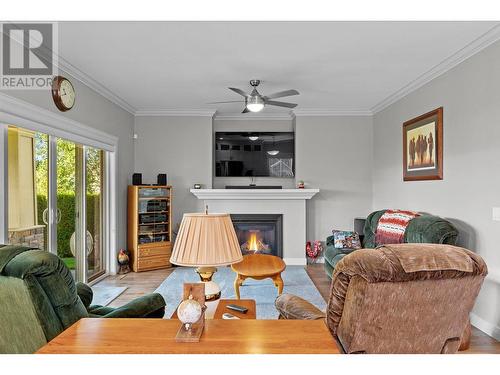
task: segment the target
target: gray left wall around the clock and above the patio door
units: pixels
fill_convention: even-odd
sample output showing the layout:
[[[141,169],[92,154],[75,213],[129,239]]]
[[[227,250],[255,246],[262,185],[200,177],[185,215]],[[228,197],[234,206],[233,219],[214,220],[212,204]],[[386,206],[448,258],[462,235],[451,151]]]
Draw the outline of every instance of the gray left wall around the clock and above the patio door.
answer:
[[[68,112],[60,112],[56,108],[49,90],[2,90],[1,92],[118,137],[116,238],[117,249],[126,248],[127,185],[134,164],[132,142],[134,116],[70,75],[65,74],[65,76],[71,80],[76,90],[75,106]]]

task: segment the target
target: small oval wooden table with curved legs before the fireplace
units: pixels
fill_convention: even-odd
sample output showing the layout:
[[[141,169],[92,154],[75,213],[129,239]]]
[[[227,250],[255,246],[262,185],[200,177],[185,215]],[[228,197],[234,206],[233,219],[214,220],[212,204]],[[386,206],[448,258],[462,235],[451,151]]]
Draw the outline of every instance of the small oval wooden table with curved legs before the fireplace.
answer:
[[[240,286],[247,278],[255,280],[270,278],[278,288],[278,295],[283,292],[281,272],[285,270],[286,265],[279,257],[265,254],[245,255],[241,262],[231,265],[231,268],[236,272],[234,292],[238,299],[240,298]]]

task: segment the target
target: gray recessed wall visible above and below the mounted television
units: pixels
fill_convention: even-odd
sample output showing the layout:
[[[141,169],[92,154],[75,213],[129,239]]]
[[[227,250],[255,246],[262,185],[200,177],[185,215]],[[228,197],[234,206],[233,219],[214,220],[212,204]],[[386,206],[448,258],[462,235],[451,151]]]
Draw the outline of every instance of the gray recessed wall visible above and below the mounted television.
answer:
[[[290,119],[252,119],[252,120],[229,120],[214,118],[213,131],[249,131],[249,132],[292,132],[294,131],[294,120]],[[297,147],[297,145],[295,145]],[[297,160],[295,160],[297,166]],[[226,185],[249,185],[252,183],[250,177],[215,177],[213,172],[214,189],[223,189]],[[294,178],[273,178],[273,177],[255,177],[253,183],[257,185],[280,185],[284,189],[293,189],[295,187]]]

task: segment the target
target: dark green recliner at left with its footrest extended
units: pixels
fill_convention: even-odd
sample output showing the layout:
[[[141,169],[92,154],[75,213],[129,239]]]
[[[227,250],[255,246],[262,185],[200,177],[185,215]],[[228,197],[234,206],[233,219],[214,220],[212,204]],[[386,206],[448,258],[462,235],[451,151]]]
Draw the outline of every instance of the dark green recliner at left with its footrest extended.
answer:
[[[56,255],[0,245],[0,353],[33,353],[81,318],[161,318],[165,300],[149,294],[119,307],[92,305]]]

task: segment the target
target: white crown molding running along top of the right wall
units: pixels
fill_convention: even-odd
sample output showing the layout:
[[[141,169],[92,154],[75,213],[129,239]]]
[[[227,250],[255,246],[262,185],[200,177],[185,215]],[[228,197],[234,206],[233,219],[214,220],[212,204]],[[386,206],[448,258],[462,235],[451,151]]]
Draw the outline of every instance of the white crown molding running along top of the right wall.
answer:
[[[391,104],[394,104],[398,100],[404,98],[415,90],[418,90],[420,87],[424,86],[426,83],[429,83],[433,79],[439,77],[440,75],[446,73],[447,71],[453,69],[460,63],[467,60],[469,57],[472,57],[476,53],[482,51],[486,47],[495,43],[500,39],[500,25],[494,26],[489,31],[481,35],[479,38],[473,40],[471,43],[466,45],[464,48],[454,53],[447,59],[443,60],[432,69],[428,70],[420,77],[408,83],[406,86],[402,87],[392,95],[388,96],[380,103],[375,105],[371,111],[373,114],[376,114],[385,108],[389,107]]]

